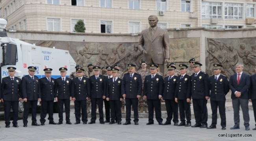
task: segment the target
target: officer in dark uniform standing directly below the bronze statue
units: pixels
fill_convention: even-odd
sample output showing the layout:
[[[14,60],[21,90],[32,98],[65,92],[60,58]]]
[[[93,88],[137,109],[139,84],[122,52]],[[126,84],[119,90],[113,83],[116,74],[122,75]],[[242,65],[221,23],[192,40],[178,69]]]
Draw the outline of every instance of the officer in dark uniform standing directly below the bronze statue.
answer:
[[[150,75],[147,75],[144,80],[143,94],[148,103],[148,123],[154,124],[154,109],[156,112],[156,120],[159,125],[163,125],[161,118],[161,98],[163,94],[163,76],[157,73],[157,64],[150,65]]]

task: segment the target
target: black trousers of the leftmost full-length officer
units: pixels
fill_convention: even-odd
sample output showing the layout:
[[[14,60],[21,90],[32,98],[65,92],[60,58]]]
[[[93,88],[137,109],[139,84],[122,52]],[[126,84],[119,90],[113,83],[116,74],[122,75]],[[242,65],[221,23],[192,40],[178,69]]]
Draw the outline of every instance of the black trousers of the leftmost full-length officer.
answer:
[[[13,125],[17,124],[19,118],[19,101],[4,101],[4,121],[10,125],[10,111],[13,109]]]

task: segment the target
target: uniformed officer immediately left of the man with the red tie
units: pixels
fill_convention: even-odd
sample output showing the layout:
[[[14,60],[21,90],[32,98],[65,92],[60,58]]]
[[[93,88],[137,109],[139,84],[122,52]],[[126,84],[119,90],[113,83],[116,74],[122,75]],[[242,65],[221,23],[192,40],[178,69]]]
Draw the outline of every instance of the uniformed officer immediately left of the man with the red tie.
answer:
[[[210,100],[211,100],[211,111],[212,111],[212,120],[211,126],[207,129],[216,128],[217,124],[217,109],[219,107],[219,114],[221,116],[221,129],[226,130],[226,94],[229,92],[228,79],[226,76],[221,74],[220,64],[213,64],[213,74],[209,78],[209,89]]]

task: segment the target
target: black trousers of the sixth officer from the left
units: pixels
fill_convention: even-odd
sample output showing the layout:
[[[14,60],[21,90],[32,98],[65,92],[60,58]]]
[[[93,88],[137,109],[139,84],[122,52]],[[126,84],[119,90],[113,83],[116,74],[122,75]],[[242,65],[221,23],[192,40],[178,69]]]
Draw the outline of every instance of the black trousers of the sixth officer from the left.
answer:
[[[91,121],[96,121],[96,105],[98,104],[98,110],[100,114],[100,122],[104,121],[103,114],[103,98],[91,98]]]

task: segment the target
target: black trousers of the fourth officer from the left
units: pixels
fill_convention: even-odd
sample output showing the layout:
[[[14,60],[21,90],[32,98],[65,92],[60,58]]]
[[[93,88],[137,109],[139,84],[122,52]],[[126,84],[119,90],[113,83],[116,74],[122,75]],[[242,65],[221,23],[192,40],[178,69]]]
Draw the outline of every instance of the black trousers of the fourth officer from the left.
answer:
[[[70,99],[58,99],[59,122],[63,121],[63,104],[65,105],[66,122],[70,121]]]

